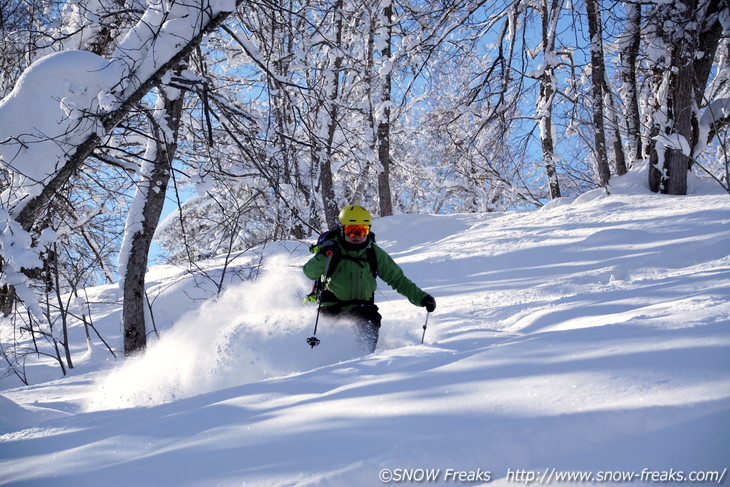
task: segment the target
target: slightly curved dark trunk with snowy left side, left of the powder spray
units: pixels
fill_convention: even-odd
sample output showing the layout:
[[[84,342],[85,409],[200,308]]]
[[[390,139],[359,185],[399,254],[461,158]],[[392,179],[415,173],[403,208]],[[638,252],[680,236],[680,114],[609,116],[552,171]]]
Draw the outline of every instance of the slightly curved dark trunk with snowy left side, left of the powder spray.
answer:
[[[145,326],[145,274],[149,258],[150,245],[155,229],[160,221],[162,207],[165,204],[167,183],[172,170],[172,160],[177,150],[177,132],[180,126],[180,116],[184,96],[180,93],[176,99],[170,100],[159,90],[163,98],[164,123],[172,131],[172,140],[166,140],[165,131],[159,126],[154,115],[150,117],[152,126],[150,144],[155,146],[154,161],[145,161],[143,174],[135,194],[135,203],[142,202],[141,222],[135,221],[133,209],[129,214],[127,226],[141,225],[132,235],[127,253],[126,272],[123,275],[124,303],[122,308],[122,325],[124,328],[124,355],[130,356],[143,350],[147,344],[147,329]],[[148,168],[148,171],[144,169]]]

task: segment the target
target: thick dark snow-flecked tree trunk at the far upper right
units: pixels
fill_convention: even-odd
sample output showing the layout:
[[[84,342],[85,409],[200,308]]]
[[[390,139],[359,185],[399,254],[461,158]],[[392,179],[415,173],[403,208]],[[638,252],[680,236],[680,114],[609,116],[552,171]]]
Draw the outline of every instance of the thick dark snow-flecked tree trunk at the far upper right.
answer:
[[[725,0],[679,0],[647,12],[651,86],[649,185],[686,194],[687,172],[707,144],[701,110],[720,40],[730,28]],[[720,73],[720,75],[723,75]],[[717,125],[725,115],[710,125]]]

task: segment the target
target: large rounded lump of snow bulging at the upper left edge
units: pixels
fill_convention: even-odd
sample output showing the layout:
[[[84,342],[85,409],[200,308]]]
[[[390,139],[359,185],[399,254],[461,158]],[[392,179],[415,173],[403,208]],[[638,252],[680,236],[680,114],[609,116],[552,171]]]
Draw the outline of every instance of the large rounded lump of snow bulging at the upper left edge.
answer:
[[[3,207],[20,211],[38,196],[89,134],[101,131],[119,73],[86,51],[50,54],[32,64],[0,102],[0,164],[9,172]]]

